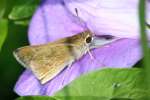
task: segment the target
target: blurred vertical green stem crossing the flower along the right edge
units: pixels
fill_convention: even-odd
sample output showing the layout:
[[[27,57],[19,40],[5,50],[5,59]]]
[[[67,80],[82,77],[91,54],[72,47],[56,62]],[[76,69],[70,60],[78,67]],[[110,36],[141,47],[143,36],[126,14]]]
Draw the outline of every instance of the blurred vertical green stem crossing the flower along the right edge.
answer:
[[[148,47],[148,39],[147,39],[147,33],[146,33],[146,0],[140,0],[139,1],[139,23],[140,23],[140,32],[141,32],[141,44],[142,44],[142,50],[144,54],[143,58],[143,68],[145,74],[145,81],[146,86],[148,89],[150,89],[150,51]]]

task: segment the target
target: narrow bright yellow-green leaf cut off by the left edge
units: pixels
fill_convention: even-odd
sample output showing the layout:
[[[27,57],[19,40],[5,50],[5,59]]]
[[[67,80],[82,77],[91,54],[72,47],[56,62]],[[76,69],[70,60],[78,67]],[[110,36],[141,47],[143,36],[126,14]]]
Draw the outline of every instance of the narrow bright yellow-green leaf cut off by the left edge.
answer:
[[[1,19],[0,20],[0,51],[6,39],[7,31],[8,31],[8,21],[6,19]]]

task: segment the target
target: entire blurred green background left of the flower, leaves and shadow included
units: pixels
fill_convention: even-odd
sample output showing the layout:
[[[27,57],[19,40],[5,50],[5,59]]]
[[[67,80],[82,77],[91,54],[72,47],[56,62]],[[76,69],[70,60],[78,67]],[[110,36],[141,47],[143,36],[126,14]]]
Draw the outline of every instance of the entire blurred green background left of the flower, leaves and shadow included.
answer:
[[[13,57],[13,50],[28,45],[28,22],[39,0],[0,0],[0,99],[13,100],[14,85],[24,68]]]

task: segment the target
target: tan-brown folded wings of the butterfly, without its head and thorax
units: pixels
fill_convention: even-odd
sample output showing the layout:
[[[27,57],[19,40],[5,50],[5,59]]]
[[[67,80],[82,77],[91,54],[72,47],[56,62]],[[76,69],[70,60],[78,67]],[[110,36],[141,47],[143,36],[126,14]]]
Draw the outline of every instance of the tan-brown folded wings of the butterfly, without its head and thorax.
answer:
[[[65,44],[47,44],[42,46],[25,46],[14,52],[16,59],[26,68],[32,70],[42,84],[53,79],[75,57],[71,46]]]

